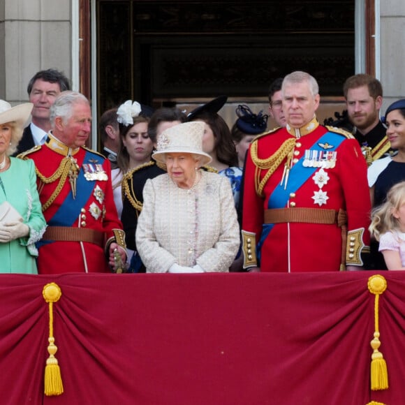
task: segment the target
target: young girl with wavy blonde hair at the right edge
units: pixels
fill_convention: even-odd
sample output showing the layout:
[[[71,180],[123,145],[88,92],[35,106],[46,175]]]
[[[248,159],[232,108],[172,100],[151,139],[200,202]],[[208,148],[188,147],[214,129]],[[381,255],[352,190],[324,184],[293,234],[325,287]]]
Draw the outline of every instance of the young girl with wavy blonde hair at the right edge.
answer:
[[[392,186],[386,201],[371,211],[369,230],[388,270],[405,270],[405,182]]]

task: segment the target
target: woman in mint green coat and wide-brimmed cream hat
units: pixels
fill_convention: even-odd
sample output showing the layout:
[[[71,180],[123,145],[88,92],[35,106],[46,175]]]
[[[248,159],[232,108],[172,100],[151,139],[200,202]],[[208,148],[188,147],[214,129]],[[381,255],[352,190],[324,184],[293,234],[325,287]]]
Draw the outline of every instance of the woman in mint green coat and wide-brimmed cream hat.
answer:
[[[31,160],[10,157],[22,138],[32,103],[0,100],[0,273],[36,274],[38,242],[45,232]]]

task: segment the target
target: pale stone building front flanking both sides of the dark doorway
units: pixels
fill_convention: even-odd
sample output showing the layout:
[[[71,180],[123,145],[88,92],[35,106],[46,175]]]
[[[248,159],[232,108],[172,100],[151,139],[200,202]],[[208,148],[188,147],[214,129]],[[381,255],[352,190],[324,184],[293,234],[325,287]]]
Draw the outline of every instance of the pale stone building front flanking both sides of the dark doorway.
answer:
[[[98,1],[0,0],[0,98],[12,104],[27,101],[32,75],[57,68],[71,78],[73,89],[91,98],[97,117]],[[403,0],[355,0],[355,73],[375,73],[381,80],[382,112],[405,97],[403,27]],[[256,102],[253,110],[267,110],[266,102]],[[223,112],[234,110],[230,103]],[[94,130],[92,145],[96,143]]]

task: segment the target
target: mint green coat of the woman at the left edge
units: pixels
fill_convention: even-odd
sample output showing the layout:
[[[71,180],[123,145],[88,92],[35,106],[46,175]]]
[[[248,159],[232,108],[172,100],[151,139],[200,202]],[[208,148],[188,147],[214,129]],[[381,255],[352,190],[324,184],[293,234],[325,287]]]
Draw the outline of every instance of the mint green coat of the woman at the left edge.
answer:
[[[45,232],[46,223],[36,189],[35,165],[31,159],[10,160],[10,168],[0,173],[0,204],[8,201],[17,209],[29,226],[29,236],[0,243],[0,273],[37,274],[35,242]]]

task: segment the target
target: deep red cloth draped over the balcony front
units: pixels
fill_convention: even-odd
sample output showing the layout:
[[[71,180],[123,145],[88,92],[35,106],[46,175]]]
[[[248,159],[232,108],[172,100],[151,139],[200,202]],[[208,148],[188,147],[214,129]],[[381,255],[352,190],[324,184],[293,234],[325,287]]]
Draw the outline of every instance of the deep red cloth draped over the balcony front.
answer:
[[[370,390],[375,272],[0,276],[5,404],[366,405],[403,402],[405,274],[382,272]],[[43,395],[54,281],[64,393]]]

